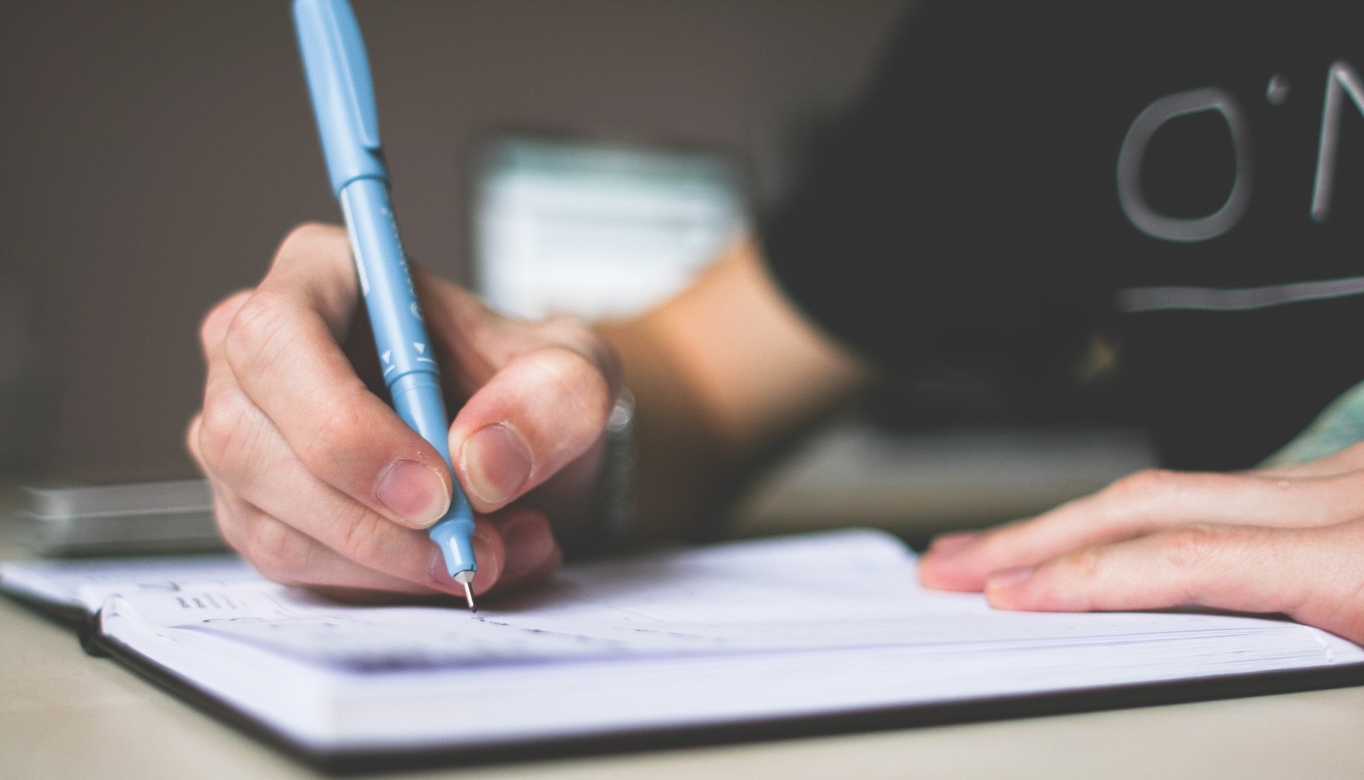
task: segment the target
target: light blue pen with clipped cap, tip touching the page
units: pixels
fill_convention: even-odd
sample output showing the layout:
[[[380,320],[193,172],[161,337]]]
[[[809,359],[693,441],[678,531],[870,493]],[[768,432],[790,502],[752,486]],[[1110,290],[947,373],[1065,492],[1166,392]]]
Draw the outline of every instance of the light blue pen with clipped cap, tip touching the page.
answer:
[[[439,372],[389,203],[389,169],[379,147],[374,82],[360,26],[346,0],[295,0],[293,23],[383,380],[398,416],[431,442],[450,468],[454,495],[450,510],[431,526],[431,540],[441,547],[450,577],[464,585],[469,610],[477,611],[469,586],[477,571],[471,543],[473,510],[454,479]]]

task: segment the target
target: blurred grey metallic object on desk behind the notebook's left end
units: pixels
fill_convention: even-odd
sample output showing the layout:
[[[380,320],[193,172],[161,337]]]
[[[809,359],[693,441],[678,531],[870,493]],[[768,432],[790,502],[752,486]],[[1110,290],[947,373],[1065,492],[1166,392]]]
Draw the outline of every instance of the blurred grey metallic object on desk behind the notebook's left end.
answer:
[[[20,541],[38,555],[218,552],[205,480],[25,487]]]

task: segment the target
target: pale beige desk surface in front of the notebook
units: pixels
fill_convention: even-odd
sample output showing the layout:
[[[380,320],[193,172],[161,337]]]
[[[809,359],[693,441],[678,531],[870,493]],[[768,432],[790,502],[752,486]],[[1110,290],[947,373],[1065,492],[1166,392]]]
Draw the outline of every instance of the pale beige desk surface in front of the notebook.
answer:
[[[0,522],[0,556],[16,551]],[[0,600],[0,775],[284,779],[307,768]],[[1364,687],[404,777],[1364,777]]]

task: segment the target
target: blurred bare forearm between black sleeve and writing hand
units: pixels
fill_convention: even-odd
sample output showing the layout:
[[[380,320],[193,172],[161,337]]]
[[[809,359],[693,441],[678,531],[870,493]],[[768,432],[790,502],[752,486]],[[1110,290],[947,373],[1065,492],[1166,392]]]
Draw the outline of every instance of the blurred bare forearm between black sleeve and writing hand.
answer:
[[[782,297],[749,243],[602,330],[636,397],[644,536],[711,535],[754,460],[869,375]]]

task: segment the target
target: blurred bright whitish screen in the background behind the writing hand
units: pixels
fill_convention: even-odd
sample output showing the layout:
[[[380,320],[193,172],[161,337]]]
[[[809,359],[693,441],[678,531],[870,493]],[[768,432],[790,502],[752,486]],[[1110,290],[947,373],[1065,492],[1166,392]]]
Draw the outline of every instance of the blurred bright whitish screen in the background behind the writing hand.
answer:
[[[507,135],[475,183],[475,284],[529,319],[640,312],[683,288],[743,229],[722,154]]]

